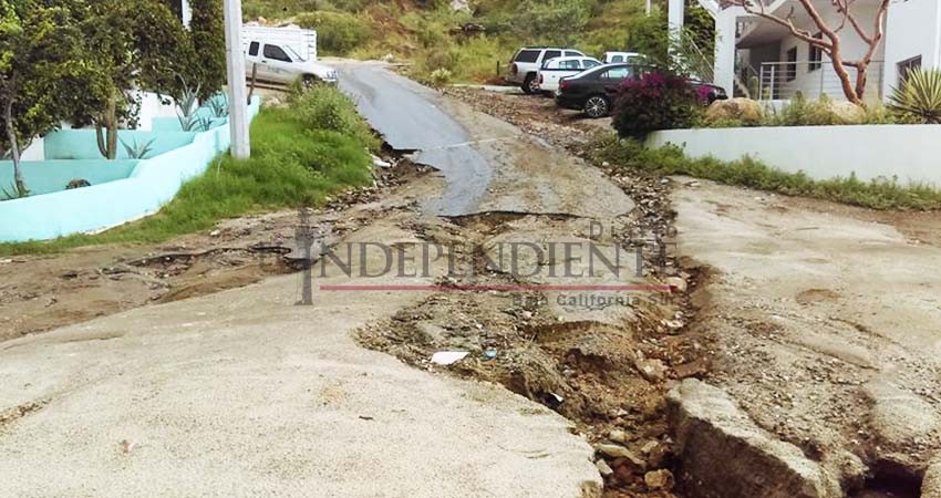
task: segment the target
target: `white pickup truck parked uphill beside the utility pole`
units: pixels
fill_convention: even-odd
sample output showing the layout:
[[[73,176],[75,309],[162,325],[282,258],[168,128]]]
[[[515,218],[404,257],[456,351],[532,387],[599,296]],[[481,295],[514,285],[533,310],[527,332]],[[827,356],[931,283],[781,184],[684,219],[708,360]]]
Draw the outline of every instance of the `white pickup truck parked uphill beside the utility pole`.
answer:
[[[245,25],[242,44],[248,77],[278,84],[338,82],[333,68],[317,62],[317,31]]]

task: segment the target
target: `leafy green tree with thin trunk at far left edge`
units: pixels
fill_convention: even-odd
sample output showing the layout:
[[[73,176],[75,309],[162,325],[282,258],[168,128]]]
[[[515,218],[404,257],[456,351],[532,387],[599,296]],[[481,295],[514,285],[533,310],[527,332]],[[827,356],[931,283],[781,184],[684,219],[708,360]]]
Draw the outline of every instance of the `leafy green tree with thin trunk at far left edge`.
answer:
[[[14,195],[25,196],[20,154],[102,90],[69,9],[0,0],[0,156],[13,160]]]

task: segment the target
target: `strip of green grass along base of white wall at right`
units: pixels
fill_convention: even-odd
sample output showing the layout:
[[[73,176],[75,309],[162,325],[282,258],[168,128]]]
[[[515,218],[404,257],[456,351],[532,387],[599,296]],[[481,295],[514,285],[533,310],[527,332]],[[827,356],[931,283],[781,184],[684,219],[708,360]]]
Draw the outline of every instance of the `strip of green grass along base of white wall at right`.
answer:
[[[648,148],[633,139],[606,135],[589,145],[589,156],[655,175],[687,175],[788,196],[831,200],[871,209],[941,209],[941,190],[928,185],[902,185],[898,179],[862,181],[849,178],[815,180],[804,173],[786,173],[751,157],[731,163],[714,157],[693,159],[676,146]]]

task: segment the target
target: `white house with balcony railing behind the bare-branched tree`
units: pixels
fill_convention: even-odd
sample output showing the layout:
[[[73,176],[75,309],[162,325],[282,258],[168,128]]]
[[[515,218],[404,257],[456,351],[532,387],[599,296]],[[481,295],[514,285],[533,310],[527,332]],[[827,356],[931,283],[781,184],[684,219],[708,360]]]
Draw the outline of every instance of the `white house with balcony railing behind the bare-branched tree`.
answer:
[[[715,18],[715,83],[736,94],[753,98],[788,100],[797,92],[808,98],[827,94],[845,98],[839,79],[828,56],[773,21],[746,12],[742,7],[722,0],[697,0]],[[810,33],[819,29],[797,0],[763,1],[765,11],[790,18],[794,24]],[[670,0],[671,28],[682,27],[684,0]],[[840,25],[844,59],[866,53],[868,44],[842,22],[830,0],[815,0],[821,17],[831,29]],[[856,0],[852,12],[870,33],[879,0]],[[867,100],[885,98],[918,66],[941,68],[941,1],[892,0],[883,25],[885,38],[878,46],[867,79]],[[847,68],[855,81],[856,70]]]

